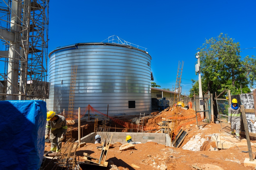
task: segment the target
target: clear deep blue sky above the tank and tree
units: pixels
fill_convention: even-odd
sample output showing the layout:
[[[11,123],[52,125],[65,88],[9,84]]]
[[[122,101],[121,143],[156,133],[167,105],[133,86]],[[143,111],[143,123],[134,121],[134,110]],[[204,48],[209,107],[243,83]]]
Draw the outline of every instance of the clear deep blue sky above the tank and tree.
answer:
[[[61,2],[61,3],[60,3]],[[154,82],[176,84],[184,61],[182,94],[189,93],[195,54],[205,39],[226,33],[240,43],[242,57],[256,55],[256,1],[50,1],[49,47],[101,42],[112,35],[147,48]],[[49,66],[48,66],[49,70]]]

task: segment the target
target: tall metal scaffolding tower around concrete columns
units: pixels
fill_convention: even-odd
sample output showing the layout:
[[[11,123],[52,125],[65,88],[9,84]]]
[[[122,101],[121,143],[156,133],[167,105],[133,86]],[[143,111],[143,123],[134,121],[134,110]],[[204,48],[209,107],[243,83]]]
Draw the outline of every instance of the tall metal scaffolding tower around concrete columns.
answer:
[[[49,0],[0,3],[0,100],[49,98],[48,11]]]

